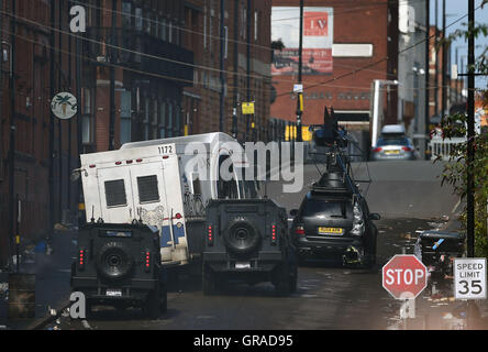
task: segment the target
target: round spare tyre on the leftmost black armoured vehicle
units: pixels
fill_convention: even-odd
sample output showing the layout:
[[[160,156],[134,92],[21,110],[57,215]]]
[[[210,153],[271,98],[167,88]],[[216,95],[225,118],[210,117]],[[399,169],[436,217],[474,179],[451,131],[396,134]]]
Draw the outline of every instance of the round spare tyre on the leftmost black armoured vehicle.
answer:
[[[97,255],[97,270],[108,279],[120,279],[131,273],[134,260],[120,242],[108,242]]]

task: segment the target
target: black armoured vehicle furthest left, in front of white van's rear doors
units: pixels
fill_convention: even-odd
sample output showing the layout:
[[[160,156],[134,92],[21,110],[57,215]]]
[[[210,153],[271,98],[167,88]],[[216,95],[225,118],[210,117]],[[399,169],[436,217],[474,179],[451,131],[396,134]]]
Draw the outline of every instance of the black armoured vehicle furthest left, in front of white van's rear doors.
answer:
[[[78,257],[71,265],[71,289],[85,294],[87,314],[95,305],[134,306],[158,318],[166,311],[167,296],[157,229],[137,221],[82,227]]]

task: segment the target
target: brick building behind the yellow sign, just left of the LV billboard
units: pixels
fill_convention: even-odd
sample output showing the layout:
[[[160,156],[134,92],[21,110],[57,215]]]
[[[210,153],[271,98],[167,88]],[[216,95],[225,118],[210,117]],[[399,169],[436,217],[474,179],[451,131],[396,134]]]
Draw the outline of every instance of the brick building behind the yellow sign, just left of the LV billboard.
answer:
[[[184,92],[190,133],[235,130],[241,141],[268,138],[270,6],[270,0],[185,1],[185,45],[196,64],[193,86]],[[254,117],[242,114],[246,101],[255,102]]]

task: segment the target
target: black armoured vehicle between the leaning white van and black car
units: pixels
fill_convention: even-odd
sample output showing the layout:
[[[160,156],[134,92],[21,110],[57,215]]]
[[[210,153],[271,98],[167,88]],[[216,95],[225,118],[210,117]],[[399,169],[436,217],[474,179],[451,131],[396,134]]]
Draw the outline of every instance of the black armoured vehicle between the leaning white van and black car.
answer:
[[[295,292],[297,260],[287,229],[286,209],[270,199],[212,200],[202,253],[203,293],[233,279],[271,282],[279,295]]]

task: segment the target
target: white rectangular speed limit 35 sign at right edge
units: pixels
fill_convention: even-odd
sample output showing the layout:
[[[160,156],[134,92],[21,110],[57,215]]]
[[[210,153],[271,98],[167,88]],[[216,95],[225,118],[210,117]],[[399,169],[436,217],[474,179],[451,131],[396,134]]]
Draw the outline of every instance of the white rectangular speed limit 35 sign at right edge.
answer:
[[[454,260],[454,297],[486,299],[486,258]]]

